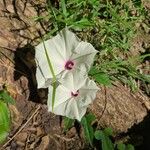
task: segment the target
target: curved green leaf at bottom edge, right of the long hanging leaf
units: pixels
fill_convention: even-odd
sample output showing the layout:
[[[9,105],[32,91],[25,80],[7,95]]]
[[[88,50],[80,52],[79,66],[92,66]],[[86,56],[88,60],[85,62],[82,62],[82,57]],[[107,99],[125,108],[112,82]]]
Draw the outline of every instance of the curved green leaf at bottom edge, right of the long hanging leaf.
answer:
[[[97,130],[94,134],[97,140],[101,140],[102,142],[102,150],[114,150],[114,145],[109,138],[103,131]]]

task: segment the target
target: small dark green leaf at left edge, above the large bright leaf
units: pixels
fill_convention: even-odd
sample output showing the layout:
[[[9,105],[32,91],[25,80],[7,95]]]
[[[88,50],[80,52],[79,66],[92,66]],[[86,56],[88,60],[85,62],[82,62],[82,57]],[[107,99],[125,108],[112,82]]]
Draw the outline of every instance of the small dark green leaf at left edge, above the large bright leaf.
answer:
[[[6,90],[0,91],[0,99],[3,100],[5,103],[15,103],[15,100],[9,95],[9,93]]]

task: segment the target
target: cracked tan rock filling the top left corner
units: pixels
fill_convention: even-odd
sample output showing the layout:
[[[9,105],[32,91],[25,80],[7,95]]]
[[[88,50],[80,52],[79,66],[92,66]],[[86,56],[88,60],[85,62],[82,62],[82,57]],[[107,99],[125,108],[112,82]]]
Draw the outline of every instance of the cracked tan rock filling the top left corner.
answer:
[[[36,41],[38,32],[44,33],[45,29],[34,21],[38,16],[40,7],[45,6],[46,0],[32,0],[23,2],[20,0],[0,1],[0,46],[15,51],[31,41]],[[39,5],[40,4],[40,5]],[[37,7],[38,6],[38,7]],[[37,7],[37,8],[36,8]],[[43,12],[43,10],[42,10]],[[39,12],[40,13],[40,12]],[[41,15],[41,14],[40,14]],[[36,42],[35,42],[36,43]]]

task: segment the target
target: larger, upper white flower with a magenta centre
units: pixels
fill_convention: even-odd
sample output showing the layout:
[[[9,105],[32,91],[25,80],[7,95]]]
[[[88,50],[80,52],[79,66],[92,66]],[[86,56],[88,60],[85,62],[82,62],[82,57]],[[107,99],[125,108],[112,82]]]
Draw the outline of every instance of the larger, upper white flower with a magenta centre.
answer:
[[[57,79],[64,73],[74,72],[77,69],[87,74],[97,53],[90,43],[80,41],[67,28],[44,43]],[[36,79],[38,88],[48,87],[52,81],[52,74],[43,43],[36,46],[35,59],[37,62]]]

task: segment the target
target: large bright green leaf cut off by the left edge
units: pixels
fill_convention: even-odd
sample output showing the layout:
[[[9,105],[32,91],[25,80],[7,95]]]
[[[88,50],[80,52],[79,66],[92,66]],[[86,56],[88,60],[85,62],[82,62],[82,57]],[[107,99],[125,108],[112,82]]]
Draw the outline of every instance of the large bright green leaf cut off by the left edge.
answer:
[[[0,100],[0,143],[2,143],[10,130],[10,112],[6,103]]]

